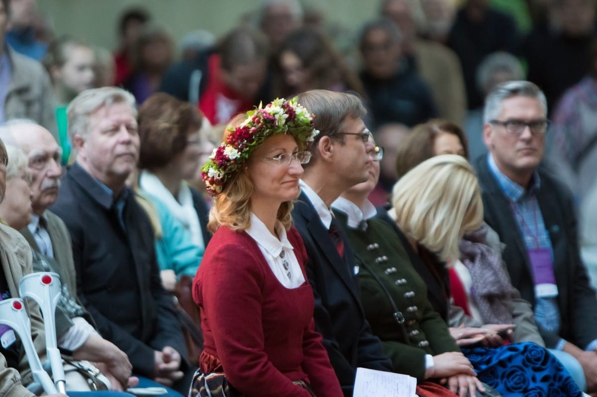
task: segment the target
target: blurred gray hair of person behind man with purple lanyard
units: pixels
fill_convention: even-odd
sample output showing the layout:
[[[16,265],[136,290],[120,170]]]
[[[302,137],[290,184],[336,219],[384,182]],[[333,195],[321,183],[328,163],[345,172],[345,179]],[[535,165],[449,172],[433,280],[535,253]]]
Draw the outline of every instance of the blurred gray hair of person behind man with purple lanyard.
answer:
[[[493,52],[481,61],[476,73],[477,88],[483,95],[487,95],[496,83],[505,82],[495,80],[498,73],[508,75],[508,81],[524,80],[527,77],[520,61],[514,55],[504,51]]]

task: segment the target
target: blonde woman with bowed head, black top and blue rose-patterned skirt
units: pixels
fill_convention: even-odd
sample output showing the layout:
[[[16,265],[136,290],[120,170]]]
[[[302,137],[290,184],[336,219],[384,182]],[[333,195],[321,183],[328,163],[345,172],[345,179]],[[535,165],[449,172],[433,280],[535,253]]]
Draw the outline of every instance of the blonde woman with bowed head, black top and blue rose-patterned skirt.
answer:
[[[398,226],[402,246],[427,285],[429,302],[447,322],[451,294],[447,263],[460,256],[458,240],[463,234],[478,229],[483,220],[475,172],[462,156],[435,156],[396,182],[392,204],[390,215]],[[413,311],[407,309],[409,314]],[[499,337],[491,334],[498,329],[487,337]],[[582,395],[561,362],[535,343],[463,349],[463,353],[479,379],[503,396],[527,392],[548,395],[553,390],[562,395]],[[521,376],[525,382],[518,382]]]

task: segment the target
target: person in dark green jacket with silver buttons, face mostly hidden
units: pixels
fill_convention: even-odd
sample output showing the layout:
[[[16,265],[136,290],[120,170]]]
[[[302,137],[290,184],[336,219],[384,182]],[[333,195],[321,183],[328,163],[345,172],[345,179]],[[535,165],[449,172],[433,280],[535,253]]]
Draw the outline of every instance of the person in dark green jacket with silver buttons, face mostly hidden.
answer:
[[[444,379],[454,393],[485,391],[469,360],[427,299],[424,281],[410,264],[396,232],[380,219],[367,196],[377,184],[383,150],[373,152],[369,178],[341,194],[332,207],[355,250],[361,299],[373,333],[399,373]],[[381,281],[384,280],[384,281]],[[403,282],[404,280],[404,282]],[[386,302],[385,307],[381,302]]]

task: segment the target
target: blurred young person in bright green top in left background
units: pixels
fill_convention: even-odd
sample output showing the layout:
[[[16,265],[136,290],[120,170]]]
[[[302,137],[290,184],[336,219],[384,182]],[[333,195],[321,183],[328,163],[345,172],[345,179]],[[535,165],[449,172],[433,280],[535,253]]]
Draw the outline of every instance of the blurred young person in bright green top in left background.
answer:
[[[66,164],[70,157],[66,107],[79,92],[93,87],[94,62],[93,48],[69,36],[53,41],[44,57],[45,69],[50,73],[54,86],[56,121],[63,164]]]

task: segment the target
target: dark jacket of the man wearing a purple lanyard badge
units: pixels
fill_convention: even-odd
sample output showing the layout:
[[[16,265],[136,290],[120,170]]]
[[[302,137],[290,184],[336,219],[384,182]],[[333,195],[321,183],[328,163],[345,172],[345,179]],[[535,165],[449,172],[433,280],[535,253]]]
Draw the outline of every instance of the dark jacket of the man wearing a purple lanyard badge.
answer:
[[[475,167],[483,191],[485,222],[506,244],[502,257],[507,264],[512,285],[534,308],[536,301],[531,263],[509,201],[491,173],[487,157],[479,157]],[[555,346],[559,337],[562,337],[584,349],[597,339],[597,299],[580,259],[573,202],[564,185],[541,168],[538,173],[541,187],[537,200],[552,242],[553,269],[562,322],[559,335],[542,330],[541,327],[539,330],[549,348]]]

